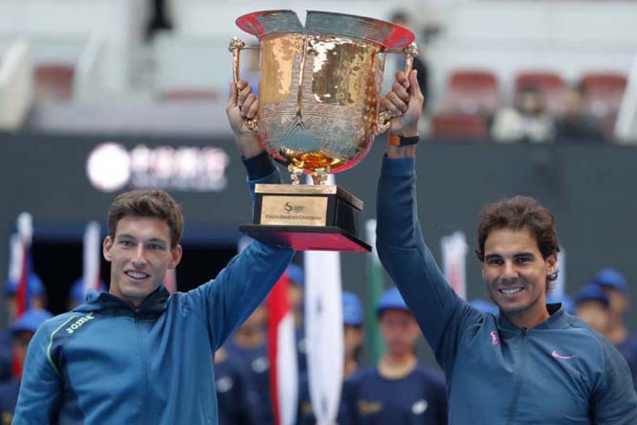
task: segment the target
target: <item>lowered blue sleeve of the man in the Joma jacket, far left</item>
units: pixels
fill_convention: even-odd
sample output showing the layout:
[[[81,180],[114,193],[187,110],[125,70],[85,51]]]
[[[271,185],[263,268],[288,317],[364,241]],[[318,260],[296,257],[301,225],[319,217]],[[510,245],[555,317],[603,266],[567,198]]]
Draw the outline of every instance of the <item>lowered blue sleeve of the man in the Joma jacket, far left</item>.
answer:
[[[49,341],[55,333],[50,329],[50,322],[43,324],[29,343],[14,425],[57,423],[62,382],[59,370],[48,354]]]

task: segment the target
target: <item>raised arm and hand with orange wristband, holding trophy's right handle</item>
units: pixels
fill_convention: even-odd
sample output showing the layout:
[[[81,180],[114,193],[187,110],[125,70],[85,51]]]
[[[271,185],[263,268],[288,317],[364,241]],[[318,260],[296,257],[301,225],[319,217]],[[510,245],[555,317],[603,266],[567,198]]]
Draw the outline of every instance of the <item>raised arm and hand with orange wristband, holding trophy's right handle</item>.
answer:
[[[378,255],[433,349],[440,365],[451,367],[461,328],[479,319],[451,290],[422,237],[415,188],[416,146],[392,139],[418,136],[422,94],[415,73],[397,73],[383,106],[395,116],[378,184]],[[410,90],[415,88],[415,90]]]

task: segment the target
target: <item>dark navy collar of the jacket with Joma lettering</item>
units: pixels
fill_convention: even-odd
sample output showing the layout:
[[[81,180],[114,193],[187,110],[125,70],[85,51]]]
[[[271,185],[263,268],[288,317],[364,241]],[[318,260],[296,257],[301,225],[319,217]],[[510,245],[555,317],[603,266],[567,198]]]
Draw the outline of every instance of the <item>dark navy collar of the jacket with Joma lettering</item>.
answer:
[[[152,293],[148,294],[144,301],[135,308],[128,302],[124,301],[111,293],[97,293],[91,290],[86,298],[86,303],[74,308],[79,312],[90,312],[98,310],[119,310],[131,315],[137,314],[140,317],[157,317],[166,311],[168,306],[168,297],[170,293],[164,285],[159,286]]]

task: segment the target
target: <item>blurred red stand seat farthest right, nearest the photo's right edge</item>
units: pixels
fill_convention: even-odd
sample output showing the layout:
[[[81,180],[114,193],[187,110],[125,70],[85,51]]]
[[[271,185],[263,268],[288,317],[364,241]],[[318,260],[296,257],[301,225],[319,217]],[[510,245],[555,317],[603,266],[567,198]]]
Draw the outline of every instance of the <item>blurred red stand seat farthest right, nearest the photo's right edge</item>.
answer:
[[[600,118],[616,115],[627,83],[625,75],[618,73],[590,72],[583,75],[581,84],[587,92],[591,112]]]

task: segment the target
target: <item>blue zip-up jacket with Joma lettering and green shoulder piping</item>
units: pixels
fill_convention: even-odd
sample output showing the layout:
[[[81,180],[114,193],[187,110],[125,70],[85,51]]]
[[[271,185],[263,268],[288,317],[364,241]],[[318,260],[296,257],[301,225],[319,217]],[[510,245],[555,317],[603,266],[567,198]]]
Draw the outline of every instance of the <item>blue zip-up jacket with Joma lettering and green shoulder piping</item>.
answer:
[[[277,171],[255,183],[276,183]],[[188,293],[139,308],[109,293],[49,319],[26,357],[14,424],[217,424],[213,355],[266,297],[293,251],[253,241]]]

